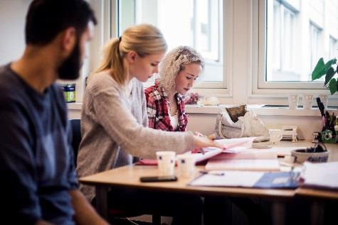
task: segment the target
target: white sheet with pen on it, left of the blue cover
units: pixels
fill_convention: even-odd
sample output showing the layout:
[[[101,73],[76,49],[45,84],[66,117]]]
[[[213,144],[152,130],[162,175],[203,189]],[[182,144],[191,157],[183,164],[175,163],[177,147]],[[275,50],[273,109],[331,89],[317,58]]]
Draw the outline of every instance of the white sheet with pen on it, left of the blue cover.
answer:
[[[223,175],[206,174],[196,178],[189,185],[214,187],[253,187],[264,172],[250,171],[217,171]]]

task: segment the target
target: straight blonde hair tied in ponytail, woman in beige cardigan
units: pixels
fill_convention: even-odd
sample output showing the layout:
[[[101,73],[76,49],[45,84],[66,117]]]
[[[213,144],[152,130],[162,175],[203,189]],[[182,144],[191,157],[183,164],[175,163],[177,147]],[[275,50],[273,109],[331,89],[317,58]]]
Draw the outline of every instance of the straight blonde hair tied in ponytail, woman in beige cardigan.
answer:
[[[105,46],[103,60],[95,73],[112,70],[112,77],[119,84],[127,80],[127,65],[123,57],[135,51],[140,57],[167,51],[167,42],[158,28],[150,24],[140,24],[127,28],[120,38],[110,40]]]

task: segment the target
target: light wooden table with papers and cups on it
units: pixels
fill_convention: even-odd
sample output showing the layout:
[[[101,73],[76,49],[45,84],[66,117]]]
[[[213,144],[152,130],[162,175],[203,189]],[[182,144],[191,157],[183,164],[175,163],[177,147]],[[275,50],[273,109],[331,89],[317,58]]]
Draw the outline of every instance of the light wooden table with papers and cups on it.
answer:
[[[309,141],[299,141],[291,143],[282,141],[276,147],[290,146],[313,146]],[[328,144],[330,150],[329,161],[338,160],[338,146]],[[176,168],[175,168],[176,170]],[[204,166],[196,166],[195,177],[199,175],[199,170],[204,170]],[[175,172],[177,174],[177,172]],[[276,189],[255,189],[255,188],[238,188],[238,187],[191,187],[187,184],[194,177],[187,179],[179,177],[177,182],[139,182],[142,176],[157,176],[159,171],[157,166],[127,165],[114,170],[107,170],[95,175],[81,177],[79,180],[85,185],[94,185],[96,187],[97,211],[107,218],[107,190],[109,187],[125,187],[128,189],[138,190],[157,190],[159,192],[177,192],[198,195],[213,195],[227,197],[259,197],[273,200],[273,207],[278,211],[274,224],[285,224],[283,218],[282,202],[285,199],[292,199],[296,195],[299,197],[319,197],[338,199],[338,192],[327,192],[322,190],[311,190],[298,188],[297,190],[276,190]]]

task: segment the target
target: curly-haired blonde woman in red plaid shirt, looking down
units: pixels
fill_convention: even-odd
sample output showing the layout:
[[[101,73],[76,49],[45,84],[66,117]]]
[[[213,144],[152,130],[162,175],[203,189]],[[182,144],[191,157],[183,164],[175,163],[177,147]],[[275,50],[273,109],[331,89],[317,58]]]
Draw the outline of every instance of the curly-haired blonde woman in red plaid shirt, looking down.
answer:
[[[171,50],[159,65],[159,79],[145,89],[149,127],[186,131],[184,96],[204,69],[204,59],[189,46]]]

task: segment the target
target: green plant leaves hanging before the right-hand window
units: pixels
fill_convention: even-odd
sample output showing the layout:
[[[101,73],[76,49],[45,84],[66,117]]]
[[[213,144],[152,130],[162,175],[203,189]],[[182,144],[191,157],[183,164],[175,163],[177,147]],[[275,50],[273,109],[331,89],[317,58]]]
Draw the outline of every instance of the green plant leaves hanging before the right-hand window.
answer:
[[[338,73],[338,65],[336,67],[336,63],[337,59],[335,58],[324,63],[324,60],[321,57],[318,60],[315,69],[312,71],[312,81],[325,75],[324,87],[329,87],[329,92],[331,92],[331,94],[336,93],[338,90],[338,79],[334,78],[334,75]],[[329,84],[329,86],[327,86],[327,84]]]

